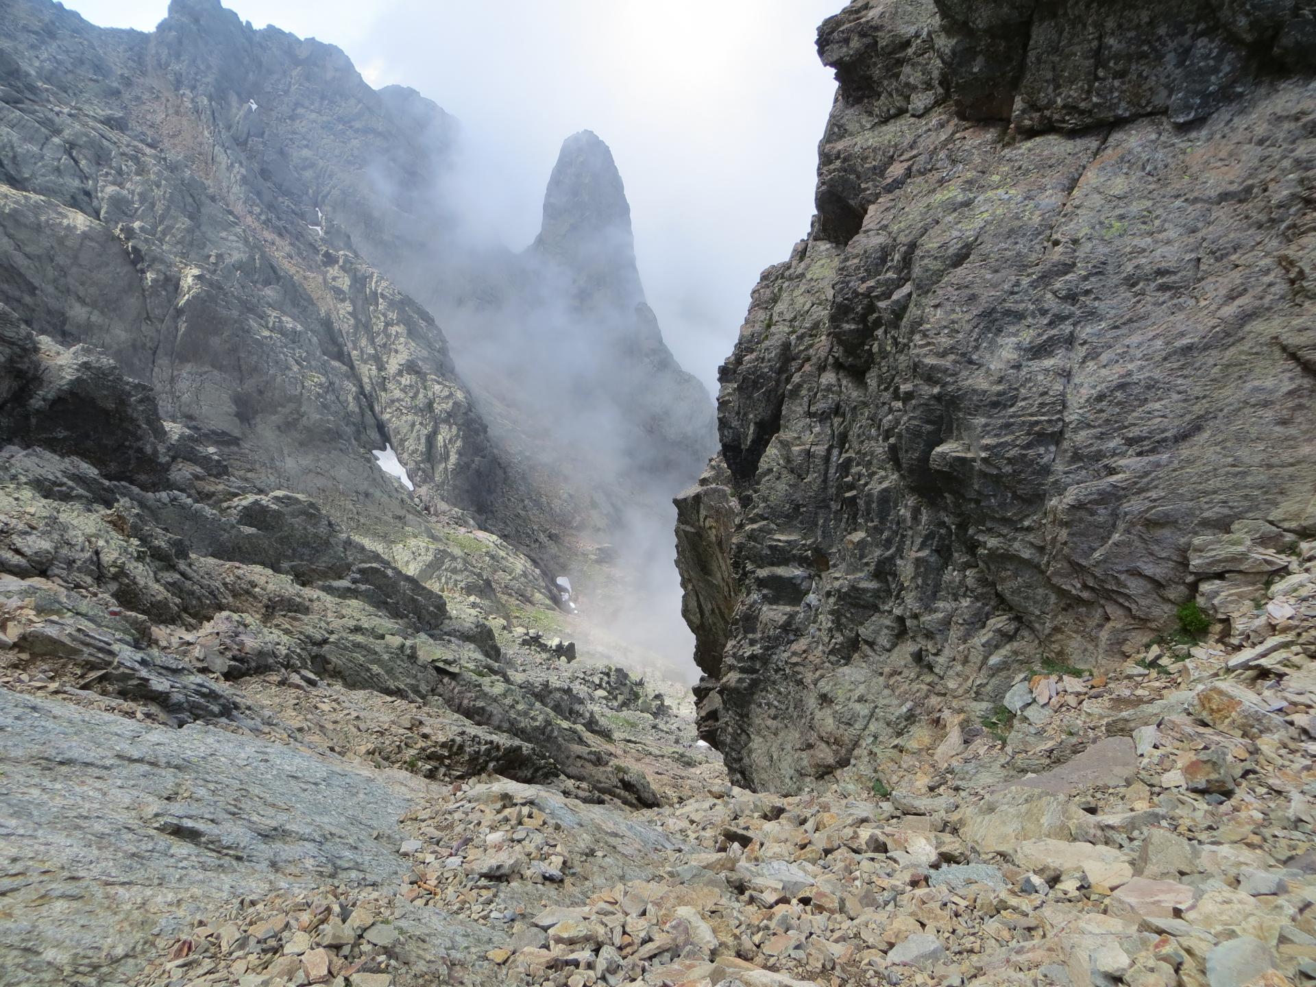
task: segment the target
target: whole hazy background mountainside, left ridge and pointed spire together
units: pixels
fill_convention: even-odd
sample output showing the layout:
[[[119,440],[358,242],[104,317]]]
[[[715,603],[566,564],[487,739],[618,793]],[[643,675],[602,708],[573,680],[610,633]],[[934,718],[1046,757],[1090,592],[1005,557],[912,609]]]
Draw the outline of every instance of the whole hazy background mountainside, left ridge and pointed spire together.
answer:
[[[103,349],[245,482],[315,499],[463,605],[561,629],[558,575],[647,592],[654,559],[597,547],[667,528],[663,496],[697,475],[712,411],[637,309],[619,240],[629,211],[601,142],[583,163],[565,154],[542,250],[519,257],[461,242],[443,111],[376,92],[338,49],[254,30],[216,0],[176,0],[151,34],[9,4],[0,84],[0,303],[20,321]],[[595,190],[601,164],[611,179]],[[615,290],[572,267],[590,250],[616,265]],[[600,318],[625,309],[629,326],[591,362],[550,349],[574,312],[557,283],[572,279],[607,297]],[[516,308],[496,351],[540,357],[480,376],[476,396],[432,317],[474,297]],[[579,425],[563,407],[600,380],[632,386],[625,413],[619,400],[583,413],[625,428],[574,429],[586,453],[572,463],[544,422]],[[413,492],[376,465],[390,447]],[[669,537],[662,549],[665,569]]]

